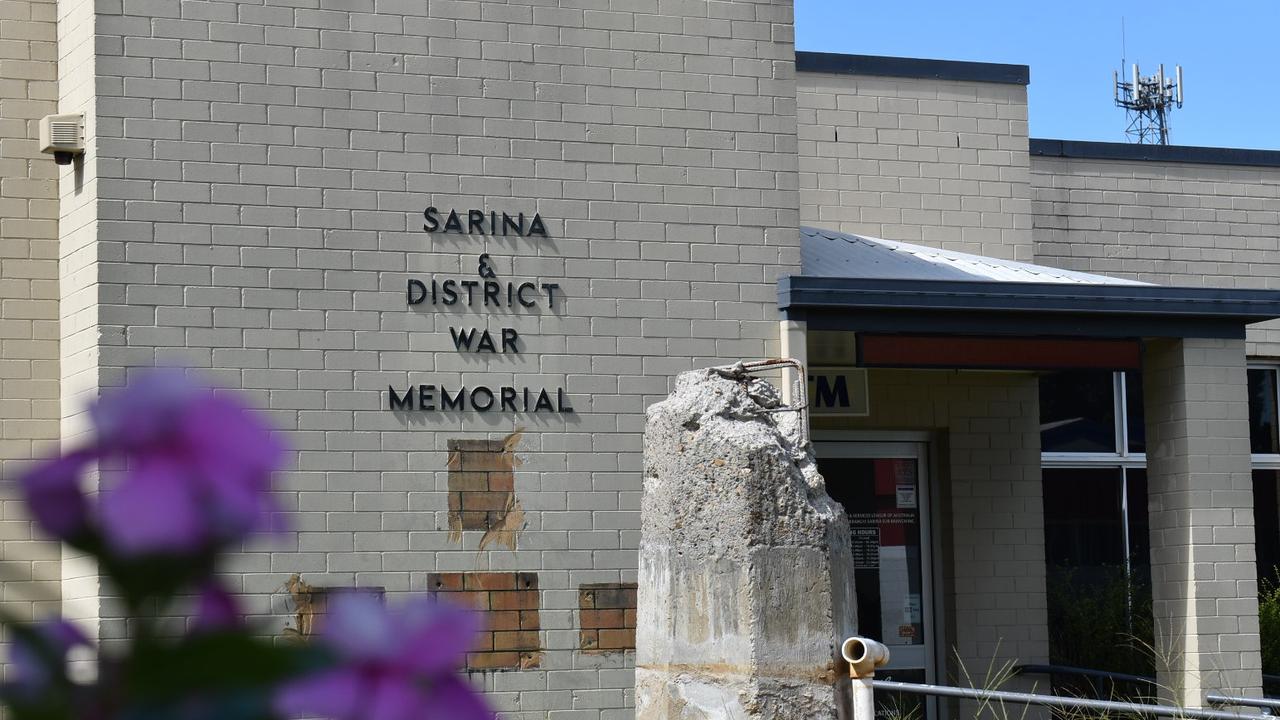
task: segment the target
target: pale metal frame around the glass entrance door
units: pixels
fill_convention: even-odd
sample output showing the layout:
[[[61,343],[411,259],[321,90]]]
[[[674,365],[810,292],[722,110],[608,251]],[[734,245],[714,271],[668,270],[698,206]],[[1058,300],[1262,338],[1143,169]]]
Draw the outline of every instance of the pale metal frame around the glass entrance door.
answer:
[[[943,623],[945,602],[938,592],[942,587],[942,538],[938,532],[937,512],[942,507],[940,484],[933,468],[937,443],[927,432],[860,432],[819,430],[813,433],[813,448],[817,457],[909,457],[916,461],[920,496],[920,583],[922,614],[924,618],[925,643],[924,682],[937,683],[938,669],[946,666],[941,648],[946,647],[942,638],[946,634]],[[886,670],[902,666],[892,660]],[[929,703],[932,705],[932,703]]]

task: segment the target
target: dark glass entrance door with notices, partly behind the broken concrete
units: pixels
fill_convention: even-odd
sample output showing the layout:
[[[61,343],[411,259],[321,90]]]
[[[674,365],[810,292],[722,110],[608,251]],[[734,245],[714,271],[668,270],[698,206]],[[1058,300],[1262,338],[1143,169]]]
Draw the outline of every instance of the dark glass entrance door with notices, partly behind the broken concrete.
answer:
[[[849,515],[858,632],[890,648],[890,664],[877,676],[934,682],[927,446],[819,442],[814,447],[827,493]],[[881,710],[896,715],[904,708]]]

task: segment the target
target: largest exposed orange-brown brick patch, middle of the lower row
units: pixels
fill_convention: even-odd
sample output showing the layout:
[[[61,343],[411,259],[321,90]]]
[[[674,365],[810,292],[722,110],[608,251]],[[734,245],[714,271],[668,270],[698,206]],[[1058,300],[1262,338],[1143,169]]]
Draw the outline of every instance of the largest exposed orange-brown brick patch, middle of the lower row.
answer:
[[[484,612],[485,632],[467,653],[467,670],[538,667],[541,641],[536,573],[431,573],[426,583],[433,597]]]

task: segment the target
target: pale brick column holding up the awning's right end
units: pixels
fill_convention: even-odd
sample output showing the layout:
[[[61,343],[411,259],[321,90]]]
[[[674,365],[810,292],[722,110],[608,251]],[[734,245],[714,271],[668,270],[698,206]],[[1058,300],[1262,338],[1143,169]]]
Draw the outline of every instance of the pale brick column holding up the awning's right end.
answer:
[[[1261,696],[1243,340],[1158,340],[1143,357],[1157,680],[1166,701]]]

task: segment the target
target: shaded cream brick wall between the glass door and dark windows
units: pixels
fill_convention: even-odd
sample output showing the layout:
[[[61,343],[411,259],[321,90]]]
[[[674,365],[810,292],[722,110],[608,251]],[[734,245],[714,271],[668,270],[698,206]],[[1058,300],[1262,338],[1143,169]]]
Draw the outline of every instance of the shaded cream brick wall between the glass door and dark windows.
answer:
[[[810,348],[810,356],[814,348]],[[947,678],[995,659],[1047,662],[1039,392],[1034,374],[870,370],[870,415],[813,418],[815,433],[933,433],[941,483]],[[850,436],[856,437],[856,436]],[[868,436],[864,436],[868,437]]]

